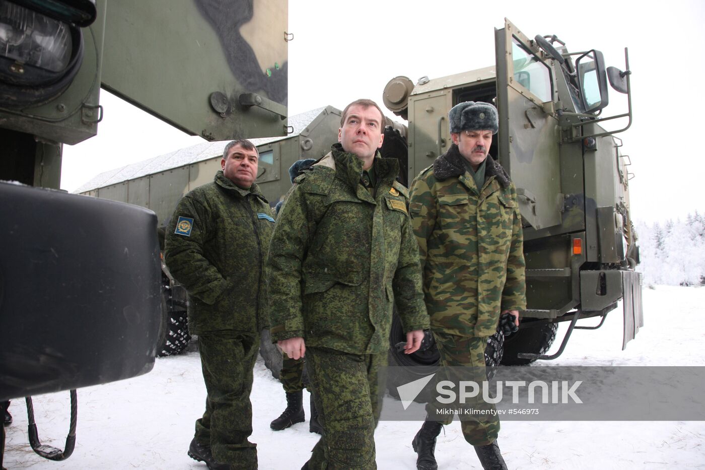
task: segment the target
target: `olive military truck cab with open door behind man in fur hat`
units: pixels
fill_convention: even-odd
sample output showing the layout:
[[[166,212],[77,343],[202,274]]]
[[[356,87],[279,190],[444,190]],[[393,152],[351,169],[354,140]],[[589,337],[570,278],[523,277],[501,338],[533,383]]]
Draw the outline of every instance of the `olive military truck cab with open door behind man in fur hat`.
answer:
[[[527,311],[505,339],[502,363],[526,364],[563,353],[573,330],[596,329],[623,301],[623,349],[643,326],[637,234],[630,217],[628,167],[622,141],[631,123],[630,71],[606,67],[594,49],[568,52],[556,36],[527,37],[509,20],[495,30],[494,66],[453,76],[392,78],[384,104],[408,119],[404,183],[450,145],[448,111],[459,102],[491,102],[499,131],[490,155],[517,187],[527,263]],[[602,116],[608,83],[627,95],[627,112]],[[603,123],[622,119],[607,131]],[[618,121],[619,122],[619,121]],[[577,321],[599,318],[596,325]],[[570,322],[558,351],[547,355],[558,323]],[[396,335],[396,336],[395,336]],[[392,344],[402,339],[393,332]],[[412,358],[391,350],[400,364],[432,363],[434,351]]]

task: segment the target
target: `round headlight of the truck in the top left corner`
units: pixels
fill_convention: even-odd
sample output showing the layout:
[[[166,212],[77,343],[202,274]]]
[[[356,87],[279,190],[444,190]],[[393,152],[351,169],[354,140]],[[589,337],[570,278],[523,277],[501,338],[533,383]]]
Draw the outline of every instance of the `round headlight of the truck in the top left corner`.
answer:
[[[73,44],[66,23],[0,0],[0,55],[20,64],[61,72]],[[23,73],[23,68],[16,68]]]

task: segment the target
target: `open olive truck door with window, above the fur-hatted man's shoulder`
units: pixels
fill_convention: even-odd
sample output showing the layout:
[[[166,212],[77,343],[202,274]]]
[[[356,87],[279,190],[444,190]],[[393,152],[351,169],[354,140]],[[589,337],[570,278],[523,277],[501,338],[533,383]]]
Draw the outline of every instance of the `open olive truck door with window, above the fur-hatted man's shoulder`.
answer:
[[[560,128],[552,59],[505,18],[495,30],[499,161],[517,187],[525,227],[561,222]]]

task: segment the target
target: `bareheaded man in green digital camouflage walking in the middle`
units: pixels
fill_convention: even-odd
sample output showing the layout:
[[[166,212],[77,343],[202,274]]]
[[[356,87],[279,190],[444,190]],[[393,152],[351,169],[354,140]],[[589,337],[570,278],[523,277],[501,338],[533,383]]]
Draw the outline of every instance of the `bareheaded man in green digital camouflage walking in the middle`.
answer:
[[[377,152],[383,119],[370,100],[343,110],[339,143],[295,179],[272,235],[271,337],[290,358],[306,356],[323,426],[304,469],[376,469],[393,303],[407,354],[429,325],[407,191],[397,160]]]

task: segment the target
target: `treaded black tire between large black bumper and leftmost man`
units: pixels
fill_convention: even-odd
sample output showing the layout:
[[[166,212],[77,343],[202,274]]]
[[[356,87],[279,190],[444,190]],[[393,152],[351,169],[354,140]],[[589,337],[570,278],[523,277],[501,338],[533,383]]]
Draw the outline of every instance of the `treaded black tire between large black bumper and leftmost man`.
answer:
[[[183,289],[176,287],[175,289]],[[166,276],[161,283],[161,327],[157,357],[174,356],[183,351],[191,341],[188,332],[188,305],[185,292],[175,294]]]

